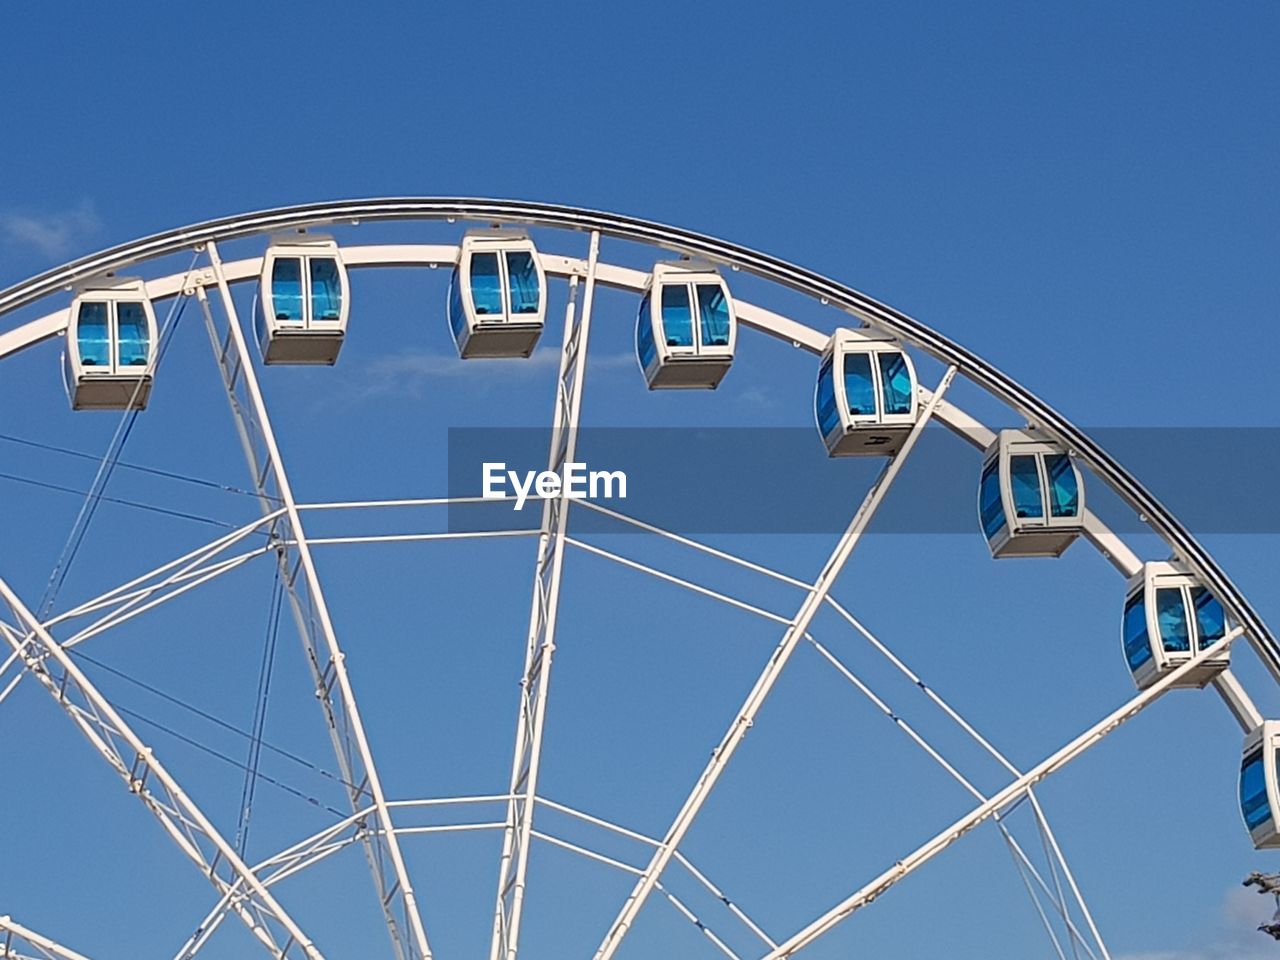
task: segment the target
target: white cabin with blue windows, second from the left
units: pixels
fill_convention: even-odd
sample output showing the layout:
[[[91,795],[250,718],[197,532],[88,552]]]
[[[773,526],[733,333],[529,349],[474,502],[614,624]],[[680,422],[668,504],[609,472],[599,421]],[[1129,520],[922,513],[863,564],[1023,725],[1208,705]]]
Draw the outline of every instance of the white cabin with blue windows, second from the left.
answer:
[[[333,239],[273,239],[262,257],[255,320],[262,362],[335,364],[349,300],[347,269]]]

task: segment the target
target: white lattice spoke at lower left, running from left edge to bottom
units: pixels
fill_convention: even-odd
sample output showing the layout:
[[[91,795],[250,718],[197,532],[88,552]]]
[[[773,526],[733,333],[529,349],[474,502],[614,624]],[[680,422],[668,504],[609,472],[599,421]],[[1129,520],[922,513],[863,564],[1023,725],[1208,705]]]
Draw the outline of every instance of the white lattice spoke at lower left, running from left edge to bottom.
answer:
[[[81,728],[81,732],[106,759],[129,791],[160,820],[179,849],[209,877],[219,893],[236,893],[233,909],[271,956],[279,960],[301,955],[323,960],[311,940],[275,901],[262,882],[244,865],[236,850],[218,832],[178,786],[106,698],[88,681],[49,631],[40,623],[6,582],[0,580],[3,599],[19,623],[32,631],[36,649],[23,653],[29,671],[54,700]],[[5,639],[14,650],[18,640],[8,631]],[[56,666],[55,677],[50,667]],[[128,759],[127,759],[128,758]]]

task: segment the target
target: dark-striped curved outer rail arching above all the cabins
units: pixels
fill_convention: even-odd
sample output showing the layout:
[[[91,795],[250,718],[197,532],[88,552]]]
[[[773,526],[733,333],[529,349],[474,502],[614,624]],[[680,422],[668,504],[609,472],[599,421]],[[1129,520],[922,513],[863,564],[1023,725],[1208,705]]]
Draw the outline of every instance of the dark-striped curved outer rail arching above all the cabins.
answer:
[[[899,337],[988,390],[1041,430],[1064,443],[1089,470],[1108,484],[1165,539],[1178,558],[1188,563],[1230,609],[1249,641],[1280,682],[1280,643],[1213,557],[1137,477],[1088,434],[1007,374],[948,337],[906,314],[822,274],[760,253],[736,243],[634,216],[584,210],[556,204],[460,197],[387,197],[340,200],[262,210],[206,220],[141,241],[91,253],[0,291],[0,316],[41,297],[70,288],[79,280],[128,268],[143,260],[177,253],[207,241],[227,241],[297,227],[378,220],[480,220],[599,230],[607,237],[652,243],[707,257],[746,270],[767,280],[826,300],[829,305]]]

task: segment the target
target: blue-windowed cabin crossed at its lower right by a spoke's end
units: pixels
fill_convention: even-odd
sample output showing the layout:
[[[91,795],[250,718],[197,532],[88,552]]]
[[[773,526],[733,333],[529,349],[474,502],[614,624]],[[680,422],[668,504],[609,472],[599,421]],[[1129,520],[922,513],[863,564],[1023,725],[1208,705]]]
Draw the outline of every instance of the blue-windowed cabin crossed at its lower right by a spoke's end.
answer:
[[[1140,690],[1221,640],[1228,628],[1222,604],[1175,563],[1144,563],[1129,580],[1121,635],[1125,660]],[[1176,686],[1204,686],[1228,666],[1230,654],[1220,653]]]

